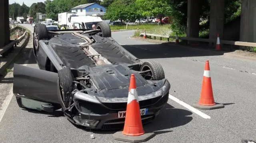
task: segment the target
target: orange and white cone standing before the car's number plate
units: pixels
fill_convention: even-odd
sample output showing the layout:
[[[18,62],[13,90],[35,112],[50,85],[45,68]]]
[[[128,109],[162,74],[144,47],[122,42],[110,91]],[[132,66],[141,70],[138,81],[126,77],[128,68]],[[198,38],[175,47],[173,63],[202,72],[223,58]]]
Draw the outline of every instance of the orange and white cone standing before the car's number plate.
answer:
[[[124,121],[124,130],[113,134],[114,139],[126,142],[145,142],[154,137],[154,132],[145,133],[140,114],[138,93],[136,90],[135,75],[130,78],[130,87]]]

